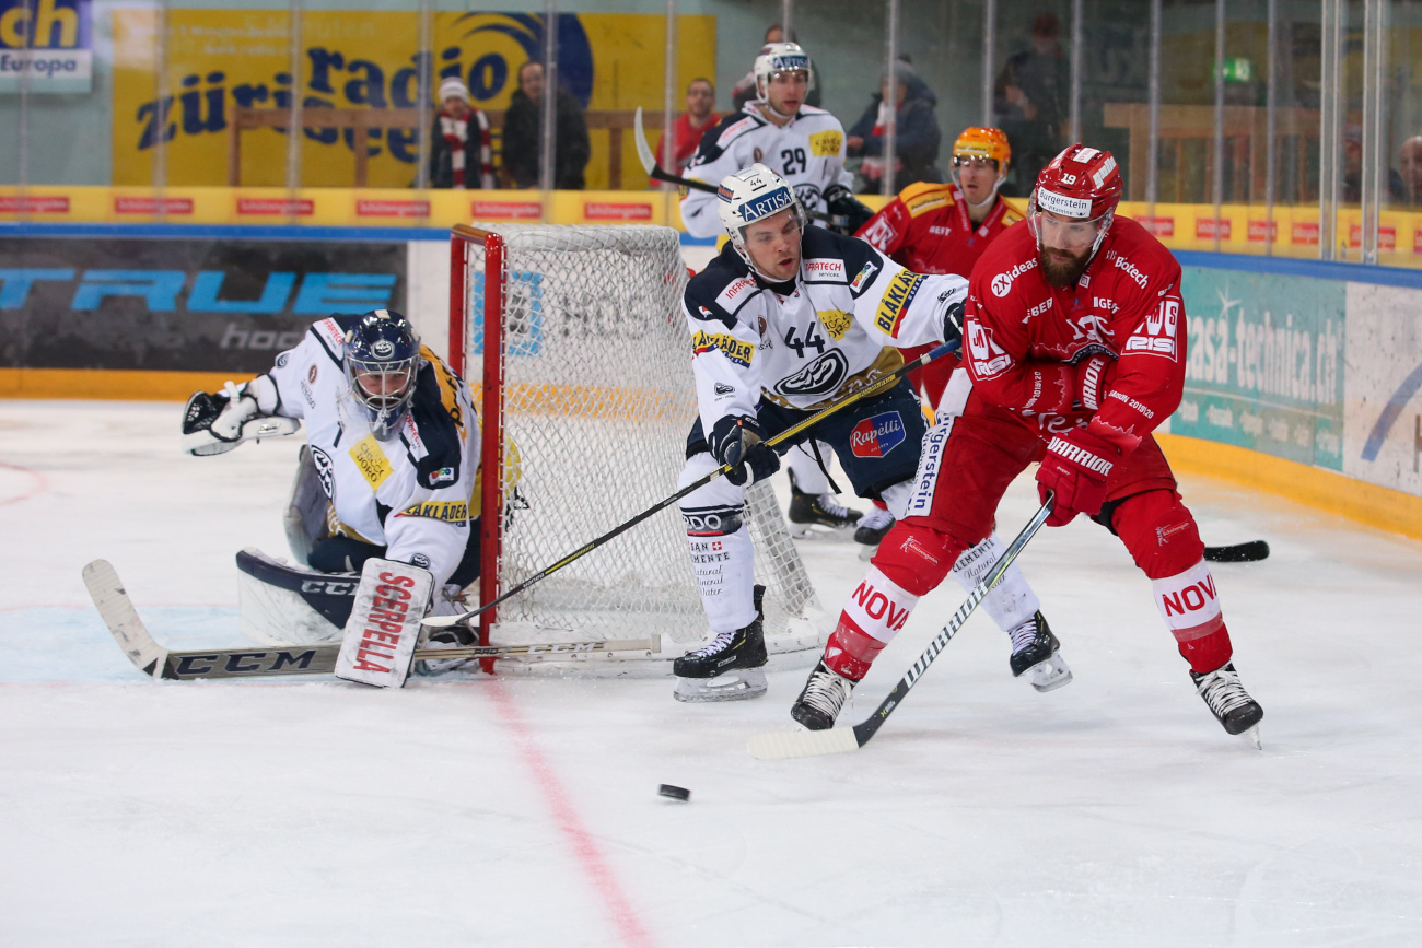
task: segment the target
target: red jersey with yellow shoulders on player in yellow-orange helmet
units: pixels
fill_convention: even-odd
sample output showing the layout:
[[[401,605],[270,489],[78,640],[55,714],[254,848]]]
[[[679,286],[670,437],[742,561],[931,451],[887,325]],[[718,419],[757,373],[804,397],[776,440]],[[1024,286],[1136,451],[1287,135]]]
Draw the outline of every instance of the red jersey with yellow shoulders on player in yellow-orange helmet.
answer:
[[[968,202],[957,185],[909,185],[855,235],[914,273],[956,273],[973,264],[1007,227],[1022,219],[998,198],[983,223],[968,217]]]

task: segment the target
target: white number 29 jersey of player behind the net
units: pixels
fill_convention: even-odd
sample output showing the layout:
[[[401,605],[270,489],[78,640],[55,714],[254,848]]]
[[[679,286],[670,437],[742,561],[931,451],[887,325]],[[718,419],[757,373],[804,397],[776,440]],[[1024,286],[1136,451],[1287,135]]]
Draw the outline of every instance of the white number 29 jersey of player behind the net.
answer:
[[[845,126],[822,108],[801,105],[788,124],[778,126],[761,115],[755,102],[721,119],[705,134],[687,178],[720,185],[755,162],[764,163],[789,182],[809,212],[828,212],[825,190],[833,185],[850,188],[855,176],[845,171]],[[688,190],[681,199],[681,223],[694,237],[725,233],[717,215],[715,193]]]

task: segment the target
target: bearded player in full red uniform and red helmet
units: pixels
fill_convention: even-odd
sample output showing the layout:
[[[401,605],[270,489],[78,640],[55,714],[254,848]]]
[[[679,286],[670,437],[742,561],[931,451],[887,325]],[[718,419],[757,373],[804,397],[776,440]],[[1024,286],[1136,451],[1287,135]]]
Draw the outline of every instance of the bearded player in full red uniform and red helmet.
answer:
[[[1150,435],[1185,385],[1180,264],[1140,225],[1113,219],[1121,186],[1109,152],[1069,146],[1038,176],[1030,226],[1004,233],[974,267],[967,406],[926,438],[904,519],[792,708],[806,728],[833,725],[919,597],[988,534],[1008,483],[1034,460],[1044,503],[1055,497],[1048,526],[1085,515],[1126,544],[1224,729],[1243,733],[1264,716],[1234,671],[1204,546]]]

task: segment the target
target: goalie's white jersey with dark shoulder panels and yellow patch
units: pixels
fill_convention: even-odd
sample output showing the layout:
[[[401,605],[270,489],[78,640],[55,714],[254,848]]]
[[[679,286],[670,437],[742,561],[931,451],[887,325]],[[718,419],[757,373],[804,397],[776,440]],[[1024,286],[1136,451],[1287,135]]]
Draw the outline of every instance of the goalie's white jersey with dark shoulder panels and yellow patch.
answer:
[[[395,436],[378,441],[343,365],[346,331],[358,318],[320,320],[247,391],[263,414],[304,419],[331,533],[384,546],[385,559],[421,566],[444,584],[476,529],[479,431],[469,389],[421,347],[414,401]]]

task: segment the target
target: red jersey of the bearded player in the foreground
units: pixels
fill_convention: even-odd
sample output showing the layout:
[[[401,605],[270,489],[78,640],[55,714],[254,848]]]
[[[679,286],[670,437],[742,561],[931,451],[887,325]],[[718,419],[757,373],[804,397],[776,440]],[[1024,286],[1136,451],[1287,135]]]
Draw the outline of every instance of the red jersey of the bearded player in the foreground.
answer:
[[[1129,453],[1180,404],[1180,264],[1136,222],[1115,219],[1072,289],[1048,286],[1030,227],[993,242],[968,284],[963,352],[973,388],[1041,435],[1085,425]],[[1112,360],[1096,411],[1076,401],[1078,372],[1094,355]]]

